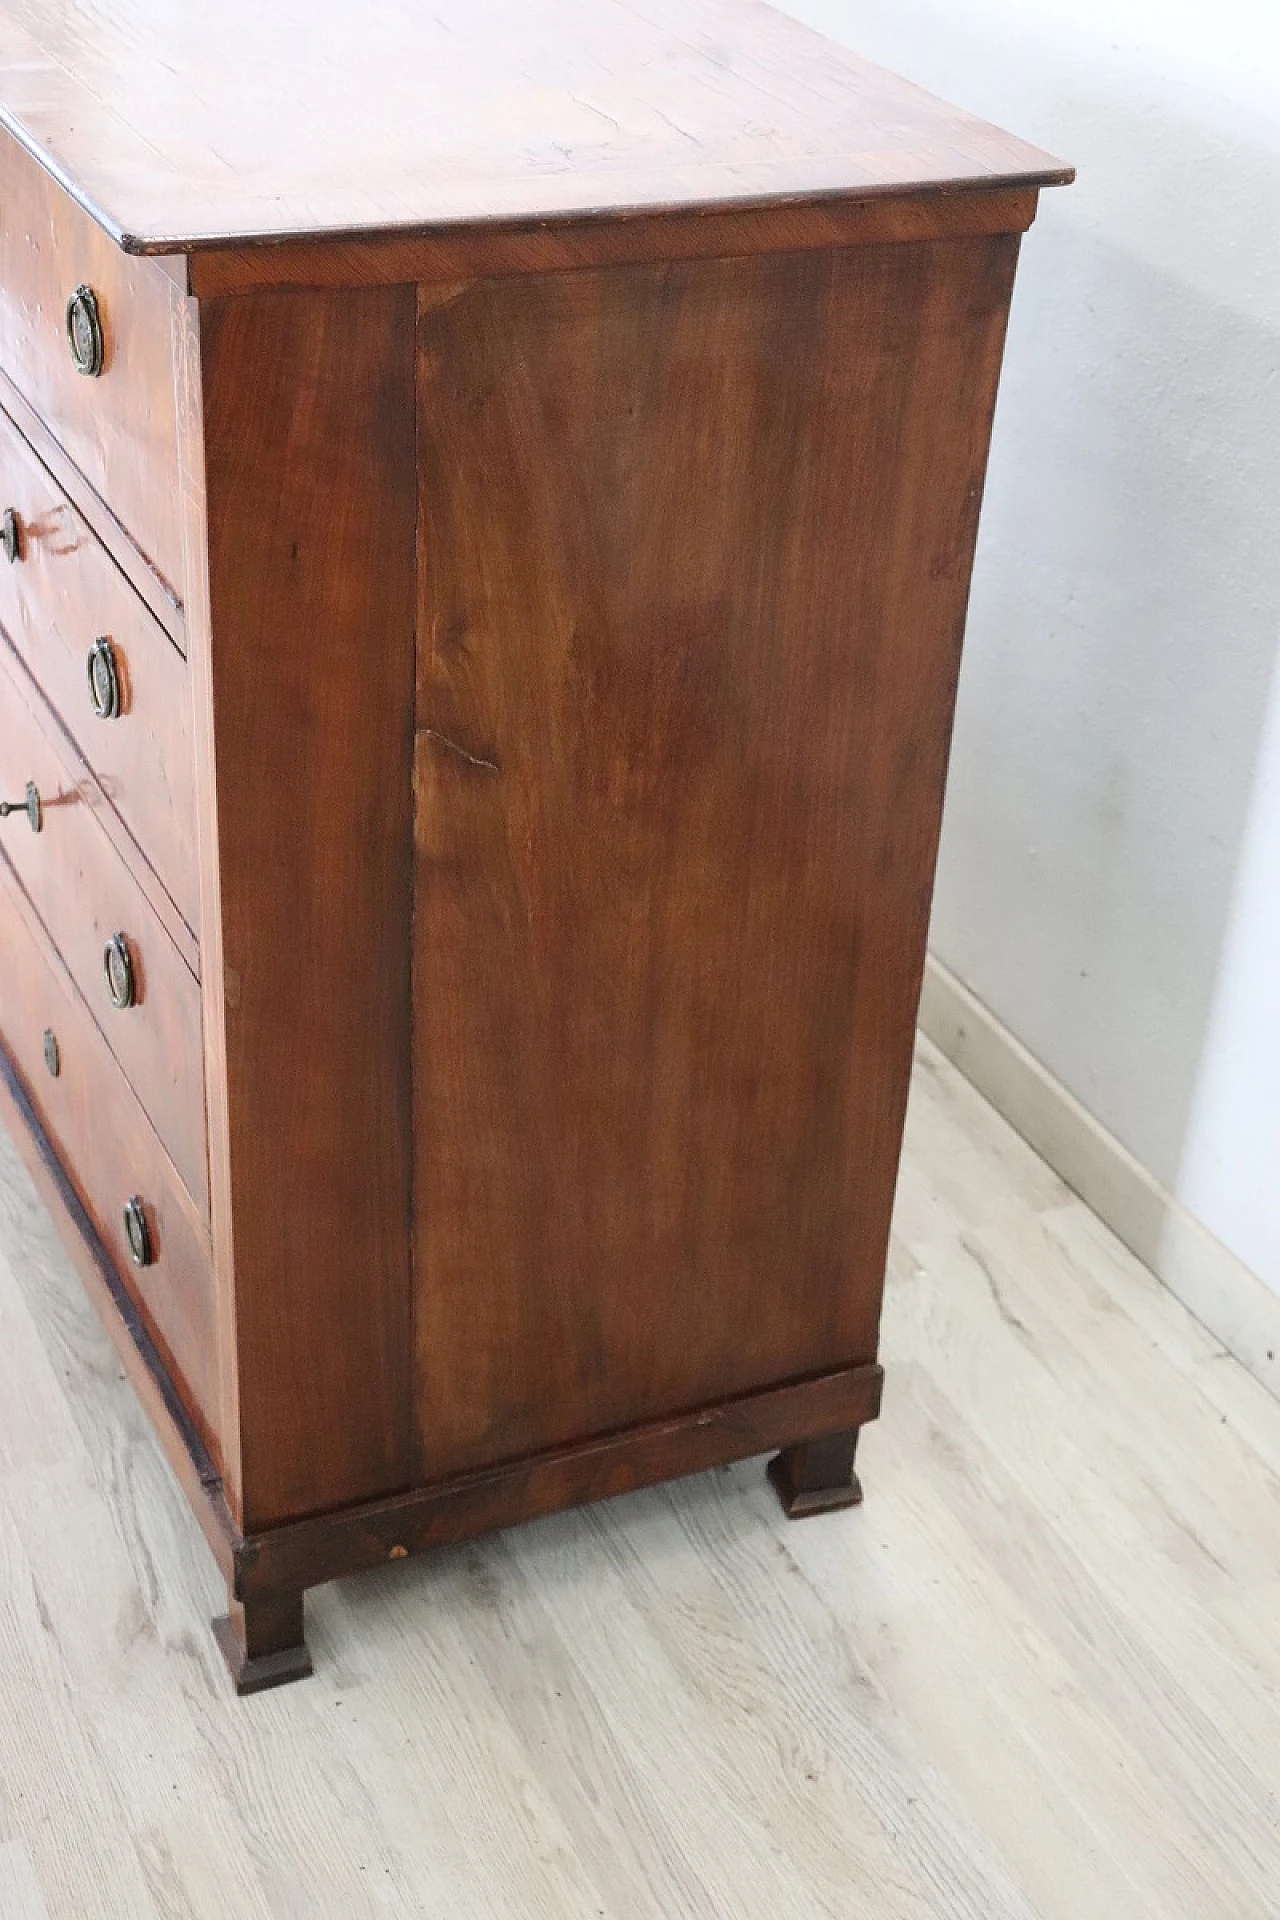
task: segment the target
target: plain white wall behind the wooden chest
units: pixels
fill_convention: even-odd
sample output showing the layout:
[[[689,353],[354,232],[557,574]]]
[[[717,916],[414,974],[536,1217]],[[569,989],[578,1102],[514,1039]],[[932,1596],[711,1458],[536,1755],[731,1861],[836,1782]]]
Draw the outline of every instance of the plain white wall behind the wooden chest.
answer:
[[[1280,10],[787,10],[1080,169],[1023,250],[933,943],[1280,1292]]]

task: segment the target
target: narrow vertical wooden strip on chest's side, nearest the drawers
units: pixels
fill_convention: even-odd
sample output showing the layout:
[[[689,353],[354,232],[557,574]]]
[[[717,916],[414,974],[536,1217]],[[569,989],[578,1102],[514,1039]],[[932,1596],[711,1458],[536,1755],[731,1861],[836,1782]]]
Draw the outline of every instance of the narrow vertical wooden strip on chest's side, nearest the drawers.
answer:
[[[415,292],[203,301],[200,369],[248,1530],[413,1478]]]

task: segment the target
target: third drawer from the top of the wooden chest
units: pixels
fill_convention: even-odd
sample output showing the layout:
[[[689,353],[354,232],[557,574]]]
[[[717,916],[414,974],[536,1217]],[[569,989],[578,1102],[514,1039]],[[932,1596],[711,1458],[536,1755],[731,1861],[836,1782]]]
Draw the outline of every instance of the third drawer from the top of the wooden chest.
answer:
[[[31,783],[40,803],[40,831],[25,814],[10,814],[0,820],[0,847],[207,1215],[200,983],[94,818],[106,806],[102,789],[86,768],[69,772],[69,743],[63,737],[56,745],[54,728],[8,641],[0,641],[0,799],[21,799]],[[106,977],[107,945],[117,937],[132,975],[132,1002],[123,1006],[113,1004]],[[129,1002],[129,995],[123,998]]]

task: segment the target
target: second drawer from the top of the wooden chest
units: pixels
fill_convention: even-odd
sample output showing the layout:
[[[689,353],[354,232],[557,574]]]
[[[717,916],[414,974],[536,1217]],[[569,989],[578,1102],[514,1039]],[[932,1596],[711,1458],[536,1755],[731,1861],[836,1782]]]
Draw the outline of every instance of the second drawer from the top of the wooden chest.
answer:
[[[188,927],[200,924],[192,703],[186,660],[152,618],[48,467],[0,413],[0,513],[13,543],[0,553],[0,628],[73,735]],[[94,710],[119,687],[117,712]],[[106,666],[106,678],[102,678]]]

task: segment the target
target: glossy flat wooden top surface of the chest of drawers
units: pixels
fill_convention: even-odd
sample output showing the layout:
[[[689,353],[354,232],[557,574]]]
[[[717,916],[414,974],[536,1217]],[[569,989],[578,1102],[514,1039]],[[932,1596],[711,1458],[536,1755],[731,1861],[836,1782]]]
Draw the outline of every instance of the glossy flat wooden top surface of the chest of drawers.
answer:
[[[1069,179],[756,0],[0,0],[0,123],[138,252]]]

